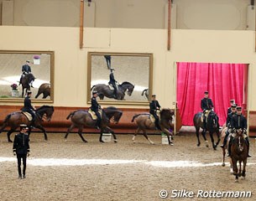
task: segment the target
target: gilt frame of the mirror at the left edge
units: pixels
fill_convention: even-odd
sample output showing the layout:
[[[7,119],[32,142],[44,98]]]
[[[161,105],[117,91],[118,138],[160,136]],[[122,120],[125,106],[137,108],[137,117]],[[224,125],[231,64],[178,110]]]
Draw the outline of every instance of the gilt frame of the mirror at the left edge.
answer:
[[[54,103],[55,51],[41,50],[0,50],[0,54],[50,54],[50,100],[31,99],[34,103]],[[24,98],[0,98],[0,103],[23,103]]]

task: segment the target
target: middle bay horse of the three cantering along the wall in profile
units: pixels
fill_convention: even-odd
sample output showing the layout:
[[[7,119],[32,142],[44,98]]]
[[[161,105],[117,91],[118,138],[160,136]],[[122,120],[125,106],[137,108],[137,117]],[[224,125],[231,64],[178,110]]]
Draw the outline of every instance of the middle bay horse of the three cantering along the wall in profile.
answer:
[[[112,129],[109,127],[110,121],[112,120],[114,123],[118,124],[118,121],[120,120],[121,116],[123,115],[123,111],[119,111],[116,107],[110,106],[106,109],[102,110],[102,121],[100,125],[101,129],[101,136],[99,141],[102,141],[102,133],[104,131],[111,132],[114,137],[114,142],[118,142],[117,137],[112,131]],[[81,137],[81,140],[83,142],[87,142],[84,137],[82,137],[82,130],[84,126],[88,127],[95,127],[96,126],[96,120],[92,120],[91,114],[86,110],[79,110],[79,111],[72,111],[69,116],[66,117],[66,119],[69,119],[71,117],[71,126],[66,131],[64,140],[66,141],[66,138],[68,137],[69,133],[72,131],[74,127],[78,128],[78,134]]]

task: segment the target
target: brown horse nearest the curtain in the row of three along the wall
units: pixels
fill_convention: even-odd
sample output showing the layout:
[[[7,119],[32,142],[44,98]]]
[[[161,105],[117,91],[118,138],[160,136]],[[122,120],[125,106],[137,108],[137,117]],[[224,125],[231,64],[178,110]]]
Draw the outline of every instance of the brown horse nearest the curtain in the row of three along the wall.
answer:
[[[173,145],[173,142],[170,140],[170,136],[172,137],[172,133],[169,131],[171,127],[171,121],[173,116],[175,115],[175,111],[172,111],[170,109],[163,109],[160,111],[160,119],[159,119],[159,126],[161,128],[161,131],[165,132],[165,134],[168,137],[168,142],[170,145]],[[153,141],[149,139],[147,136],[147,129],[154,130],[155,124],[150,120],[150,114],[144,113],[144,114],[138,114],[133,116],[132,122],[135,121],[136,125],[138,126],[137,130],[135,131],[133,135],[133,142],[135,142],[135,137],[137,136],[139,131],[143,131],[144,137],[150,142],[150,144],[154,144]]]

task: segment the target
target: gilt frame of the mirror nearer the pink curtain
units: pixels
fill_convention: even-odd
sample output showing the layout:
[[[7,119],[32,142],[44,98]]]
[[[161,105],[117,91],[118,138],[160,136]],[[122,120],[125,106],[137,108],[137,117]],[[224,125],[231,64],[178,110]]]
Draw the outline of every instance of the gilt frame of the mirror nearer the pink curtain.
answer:
[[[91,56],[93,55],[111,55],[111,56],[140,56],[149,57],[149,97],[152,95],[153,86],[153,54],[152,53],[117,53],[117,52],[88,52],[87,54],[87,104],[91,104]],[[133,105],[148,106],[148,101],[101,101],[102,105]]]

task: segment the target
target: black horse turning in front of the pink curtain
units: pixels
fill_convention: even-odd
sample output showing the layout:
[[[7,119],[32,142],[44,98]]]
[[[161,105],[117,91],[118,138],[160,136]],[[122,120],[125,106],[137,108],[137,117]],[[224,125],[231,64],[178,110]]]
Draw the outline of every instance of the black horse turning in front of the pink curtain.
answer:
[[[203,128],[203,122],[201,121],[202,112],[196,113],[196,115],[193,118],[194,126],[196,127],[196,137],[197,137],[197,147],[201,145],[200,139],[199,139],[199,130],[200,128]],[[219,121],[218,116],[214,111],[211,111],[208,115],[208,121],[206,123],[206,130],[209,131],[210,137],[212,140],[212,147],[214,150],[216,150],[218,143],[221,141],[220,139],[220,131],[219,131]],[[217,134],[217,143],[214,143],[213,133]],[[208,141],[206,140],[206,132],[201,132],[202,137],[204,138],[206,142],[206,147],[208,146]]]

